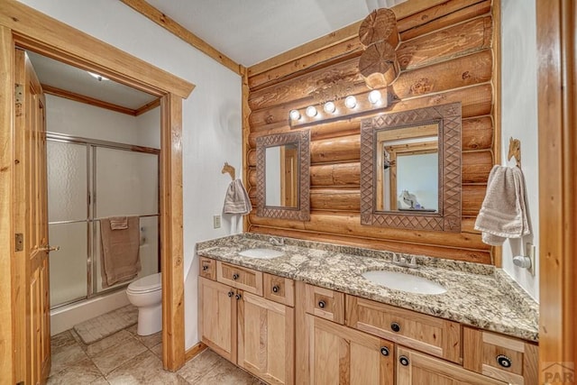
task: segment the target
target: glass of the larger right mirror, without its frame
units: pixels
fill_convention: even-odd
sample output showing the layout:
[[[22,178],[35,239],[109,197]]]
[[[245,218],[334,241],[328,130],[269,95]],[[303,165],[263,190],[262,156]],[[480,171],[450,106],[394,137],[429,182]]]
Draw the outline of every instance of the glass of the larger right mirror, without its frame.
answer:
[[[375,136],[375,211],[438,212],[438,124],[383,129]]]

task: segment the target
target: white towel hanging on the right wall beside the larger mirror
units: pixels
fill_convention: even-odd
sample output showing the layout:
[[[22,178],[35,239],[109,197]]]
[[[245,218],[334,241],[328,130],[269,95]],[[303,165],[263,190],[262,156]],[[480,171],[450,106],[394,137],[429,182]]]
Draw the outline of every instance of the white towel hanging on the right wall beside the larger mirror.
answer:
[[[507,238],[531,234],[527,220],[525,179],[518,167],[493,166],[487,193],[475,221],[484,243],[499,246]]]

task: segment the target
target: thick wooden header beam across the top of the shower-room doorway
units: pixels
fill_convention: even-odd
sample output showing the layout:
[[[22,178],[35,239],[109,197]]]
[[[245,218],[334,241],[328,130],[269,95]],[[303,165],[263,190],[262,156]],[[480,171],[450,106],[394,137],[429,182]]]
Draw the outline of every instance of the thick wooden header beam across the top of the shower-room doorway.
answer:
[[[0,2],[0,24],[14,32],[23,48],[33,46],[35,51],[51,59],[96,71],[154,96],[169,92],[187,98],[195,87],[15,0]],[[130,63],[130,68],[123,63]]]

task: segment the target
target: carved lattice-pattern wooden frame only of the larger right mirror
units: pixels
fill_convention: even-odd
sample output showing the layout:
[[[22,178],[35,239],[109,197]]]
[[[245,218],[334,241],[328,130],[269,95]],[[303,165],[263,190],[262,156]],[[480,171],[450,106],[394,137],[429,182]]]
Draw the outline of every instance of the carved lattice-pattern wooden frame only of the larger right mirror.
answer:
[[[376,133],[438,124],[439,208],[436,213],[376,211]],[[380,115],[361,126],[361,224],[413,230],[461,232],[461,103]]]

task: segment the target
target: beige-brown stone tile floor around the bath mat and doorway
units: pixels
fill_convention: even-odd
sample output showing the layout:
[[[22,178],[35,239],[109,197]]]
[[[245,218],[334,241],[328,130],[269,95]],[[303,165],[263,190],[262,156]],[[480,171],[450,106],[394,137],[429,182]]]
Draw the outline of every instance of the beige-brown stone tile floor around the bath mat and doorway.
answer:
[[[136,335],[136,325],[94,344],[74,329],[52,336],[49,384],[261,385],[264,382],[206,350],[179,371],[162,370],[162,337]]]

